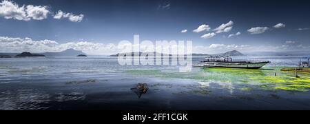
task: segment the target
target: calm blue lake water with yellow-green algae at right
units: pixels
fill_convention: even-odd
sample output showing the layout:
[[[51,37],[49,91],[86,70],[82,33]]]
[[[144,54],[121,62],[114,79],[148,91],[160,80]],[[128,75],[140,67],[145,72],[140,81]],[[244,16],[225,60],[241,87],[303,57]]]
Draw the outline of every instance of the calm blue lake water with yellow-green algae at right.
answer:
[[[187,73],[178,66],[122,66],[116,57],[0,59],[0,110],[310,110],[310,75],[280,72],[299,58],[239,56],[272,63]],[[131,90],[138,83],[149,87],[141,98]]]

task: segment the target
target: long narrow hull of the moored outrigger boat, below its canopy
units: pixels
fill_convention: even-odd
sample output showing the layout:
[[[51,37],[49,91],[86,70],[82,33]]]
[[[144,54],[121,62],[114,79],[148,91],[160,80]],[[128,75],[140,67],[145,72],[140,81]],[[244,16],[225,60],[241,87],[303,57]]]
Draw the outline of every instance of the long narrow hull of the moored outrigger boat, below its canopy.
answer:
[[[218,63],[218,62],[205,62],[200,63],[200,67],[203,66],[205,68],[248,68],[248,69],[259,69],[262,66],[269,63],[266,62],[258,62],[258,63]]]

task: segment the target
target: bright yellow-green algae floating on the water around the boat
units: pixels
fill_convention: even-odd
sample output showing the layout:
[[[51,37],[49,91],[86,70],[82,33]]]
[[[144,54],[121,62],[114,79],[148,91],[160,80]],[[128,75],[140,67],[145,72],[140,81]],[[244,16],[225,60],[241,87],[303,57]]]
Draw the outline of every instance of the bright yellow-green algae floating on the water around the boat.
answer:
[[[299,73],[296,78],[295,72],[282,72],[278,67],[262,68],[260,70],[236,69],[236,68],[201,68],[198,71],[178,73],[175,71],[161,70],[127,70],[125,73],[134,75],[152,75],[160,78],[193,79],[199,82],[220,83],[249,83],[258,85],[263,90],[288,90],[307,92],[310,89],[310,74]],[[277,72],[275,76],[275,72]],[[251,88],[242,87],[241,91],[247,92]]]

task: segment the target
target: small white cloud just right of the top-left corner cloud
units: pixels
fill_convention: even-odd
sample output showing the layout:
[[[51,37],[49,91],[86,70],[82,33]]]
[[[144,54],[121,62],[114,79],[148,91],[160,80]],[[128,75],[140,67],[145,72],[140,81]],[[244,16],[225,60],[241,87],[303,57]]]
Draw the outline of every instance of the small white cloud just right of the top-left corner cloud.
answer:
[[[68,18],[72,22],[81,22],[83,21],[84,15],[83,14],[72,14],[72,13],[66,13],[61,10],[59,10],[55,15],[54,19],[65,19]]]

